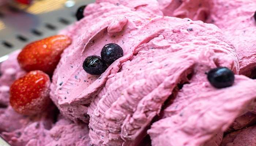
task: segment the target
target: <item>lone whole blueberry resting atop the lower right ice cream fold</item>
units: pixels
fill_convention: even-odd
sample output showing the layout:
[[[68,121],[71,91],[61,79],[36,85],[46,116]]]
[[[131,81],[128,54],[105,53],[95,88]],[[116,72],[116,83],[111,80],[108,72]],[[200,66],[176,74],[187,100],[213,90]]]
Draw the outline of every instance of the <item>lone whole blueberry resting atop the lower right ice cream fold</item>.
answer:
[[[207,74],[207,78],[215,88],[230,87],[235,80],[234,73],[225,67],[211,69]]]

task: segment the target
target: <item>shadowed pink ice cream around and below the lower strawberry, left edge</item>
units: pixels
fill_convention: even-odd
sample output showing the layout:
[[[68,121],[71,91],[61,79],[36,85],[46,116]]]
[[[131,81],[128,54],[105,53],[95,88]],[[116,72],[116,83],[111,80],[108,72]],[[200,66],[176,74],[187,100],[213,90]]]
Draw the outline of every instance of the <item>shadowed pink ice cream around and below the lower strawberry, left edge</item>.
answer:
[[[87,124],[75,124],[71,120],[57,116],[55,107],[36,116],[16,113],[9,105],[9,89],[14,80],[23,76],[16,60],[19,51],[10,54],[0,66],[0,134],[12,146],[89,146]]]

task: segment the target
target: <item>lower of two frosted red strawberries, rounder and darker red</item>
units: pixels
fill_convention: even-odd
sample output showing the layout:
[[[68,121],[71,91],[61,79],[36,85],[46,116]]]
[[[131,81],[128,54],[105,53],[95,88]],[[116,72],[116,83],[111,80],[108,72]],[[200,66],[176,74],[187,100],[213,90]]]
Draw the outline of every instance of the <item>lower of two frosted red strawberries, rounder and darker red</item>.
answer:
[[[50,78],[40,70],[27,73],[10,88],[10,104],[20,114],[34,115],[50,104]]]

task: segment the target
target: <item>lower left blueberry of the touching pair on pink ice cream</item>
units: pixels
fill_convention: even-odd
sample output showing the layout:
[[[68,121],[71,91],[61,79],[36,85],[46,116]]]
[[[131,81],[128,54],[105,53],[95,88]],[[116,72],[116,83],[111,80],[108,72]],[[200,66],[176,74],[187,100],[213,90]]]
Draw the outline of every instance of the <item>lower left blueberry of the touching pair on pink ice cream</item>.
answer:
[[[107,66],[103,63],[101,57],[93,55],[85,58],[83,69],[91,75],[100,75],[105,72]]]

